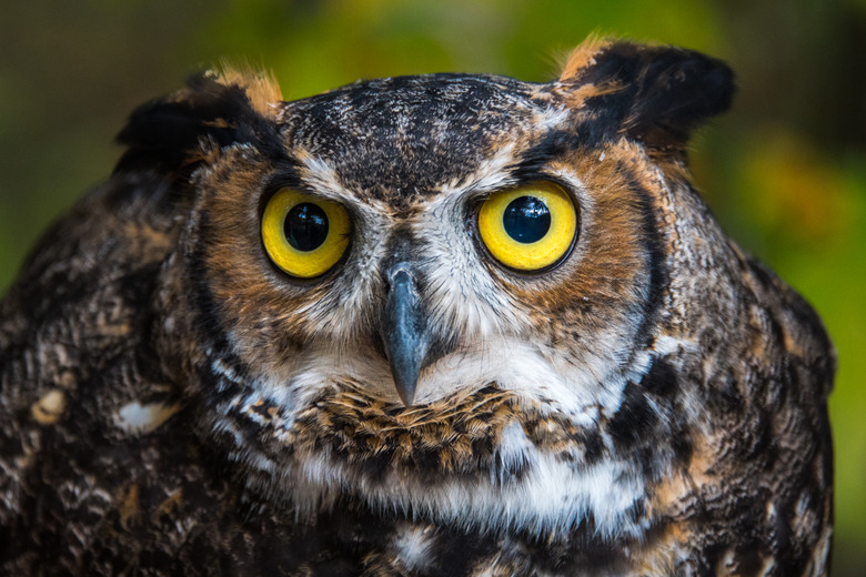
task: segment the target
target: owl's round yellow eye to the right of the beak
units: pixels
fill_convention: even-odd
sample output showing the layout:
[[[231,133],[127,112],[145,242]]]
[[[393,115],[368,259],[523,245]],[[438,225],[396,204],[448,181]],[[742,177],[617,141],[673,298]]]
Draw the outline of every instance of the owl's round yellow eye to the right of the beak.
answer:
[[[479,233],[504,266],[541,271],[561,262],[574,245],[577,207],[558,185],[533,182],[485,200]]]

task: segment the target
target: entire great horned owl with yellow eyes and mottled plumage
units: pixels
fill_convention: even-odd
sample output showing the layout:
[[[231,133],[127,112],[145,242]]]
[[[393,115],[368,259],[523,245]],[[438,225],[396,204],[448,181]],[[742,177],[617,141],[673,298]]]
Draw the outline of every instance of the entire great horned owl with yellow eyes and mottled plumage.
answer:
[[[722,62],[205,73],[0,308],[7,575],[823,575],[834,354],[691,183]]]

